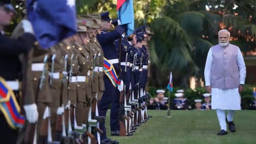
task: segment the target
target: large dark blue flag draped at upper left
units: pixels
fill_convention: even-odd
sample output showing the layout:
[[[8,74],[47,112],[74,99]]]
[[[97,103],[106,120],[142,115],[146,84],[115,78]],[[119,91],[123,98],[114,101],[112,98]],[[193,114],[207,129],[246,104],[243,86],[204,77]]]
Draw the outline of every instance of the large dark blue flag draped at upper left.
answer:
[[[27,0],[26,10],[43,49],[76,34],[75,0]]]

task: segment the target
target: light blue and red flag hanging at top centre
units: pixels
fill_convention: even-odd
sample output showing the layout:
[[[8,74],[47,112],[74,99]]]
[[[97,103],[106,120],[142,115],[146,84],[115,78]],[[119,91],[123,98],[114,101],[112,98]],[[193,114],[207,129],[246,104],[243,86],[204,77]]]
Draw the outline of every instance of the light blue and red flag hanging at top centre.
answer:
[[[134,33],[133,0],[117,0],[117,16],[121,24],[127,24],[126,36]]]

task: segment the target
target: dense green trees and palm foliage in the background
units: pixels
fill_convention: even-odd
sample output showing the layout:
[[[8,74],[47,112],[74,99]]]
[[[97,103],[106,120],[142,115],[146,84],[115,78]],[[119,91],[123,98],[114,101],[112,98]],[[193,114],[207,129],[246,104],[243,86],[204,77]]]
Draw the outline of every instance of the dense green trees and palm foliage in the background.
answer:
[[[164,87],[168,74],[173,83],[189,87],[189,78],[204,81],[208,50],[218,43],[220,29],[231,32],[231,43],[250,55],[256,47],[256,1],[254,0],[134,0],[135,26],[147,25],[155,33],[150,42],[150,85]],[[6,29],[10,33],[22,19],[24,4],[13,0],[17,13]],[[77,14],[110,12],[117,18],[117,0],[76,0]]]

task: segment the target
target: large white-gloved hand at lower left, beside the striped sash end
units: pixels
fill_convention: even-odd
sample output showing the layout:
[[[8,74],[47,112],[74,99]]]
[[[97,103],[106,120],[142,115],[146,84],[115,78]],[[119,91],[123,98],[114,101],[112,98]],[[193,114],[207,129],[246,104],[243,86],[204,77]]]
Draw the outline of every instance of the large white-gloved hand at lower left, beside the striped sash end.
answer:
[[[27,104],[23,106],[26,112],[26,118],[29,123],[38,121],[38,111],[36,104]]]

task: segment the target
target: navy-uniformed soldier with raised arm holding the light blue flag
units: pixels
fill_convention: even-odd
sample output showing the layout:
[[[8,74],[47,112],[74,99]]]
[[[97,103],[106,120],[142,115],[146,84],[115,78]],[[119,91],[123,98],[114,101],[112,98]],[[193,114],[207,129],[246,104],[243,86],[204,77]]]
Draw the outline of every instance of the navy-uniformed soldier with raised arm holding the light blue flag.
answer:
[[[115,73],[119,73],[119,49],[117,49],[114,45],[114,41],[121,37],[121,35],[126,31],[126,28],[122,25],[118,25],[115,30],[111,32],[106,32],[107,30],[111,29],[110,21],[112,19],[109,18],[109,12],[104,12],[101,15],[101,18],[104,20],[105,23],[101,25],[102,32],[100,35],[97,36],[97,40],[101,44],[103,49],[104,58],[113,66]],[[105,65],[105,62],[104,62]],[[115,75],[116,76],[116,75]],[[116,77],[114,77],[116,78]],[[113,85],[115,83],[113,77],[108,77],[104,74],[104,85],[105,91],[103,93],[102,99],[98,105],[99,116],[105,116],[108,110],[109,105],[111,104],[111,111],[110,111],[110,120],[118,119],[116,114],[119,113],[119,109],[117,109],[117,105],[119,105],[119,95],[120,92],[117,87]],[[100,129],[104,132],[101,135],[101,143],[107,144],[115,144],[119,143],[118,141],[112,141],[108,139],[106,136],[106,127],[105,122],[100,122]]]

